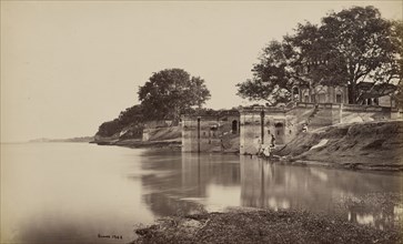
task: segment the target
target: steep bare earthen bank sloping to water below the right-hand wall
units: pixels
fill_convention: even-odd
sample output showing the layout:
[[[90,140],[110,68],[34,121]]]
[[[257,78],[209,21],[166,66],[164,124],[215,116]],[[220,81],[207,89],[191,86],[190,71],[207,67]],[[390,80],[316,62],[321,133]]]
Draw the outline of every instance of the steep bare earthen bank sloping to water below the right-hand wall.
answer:
[[[296,164],[403,171],[403,121],[337,124],[300,133],[274,153]]]

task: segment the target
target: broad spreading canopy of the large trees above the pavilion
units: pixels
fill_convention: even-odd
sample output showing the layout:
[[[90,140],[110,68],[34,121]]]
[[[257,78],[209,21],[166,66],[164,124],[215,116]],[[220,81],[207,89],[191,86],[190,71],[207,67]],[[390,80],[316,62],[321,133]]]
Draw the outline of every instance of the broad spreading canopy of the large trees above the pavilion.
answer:
[[[332,12],[320,24],[299,23],[295,33],[271,41],[238,94],[275,104],[291,100],[292,85],[347,85],[357,103],[361,82],[402,81],[402,21],[385,20],[374,7]]]

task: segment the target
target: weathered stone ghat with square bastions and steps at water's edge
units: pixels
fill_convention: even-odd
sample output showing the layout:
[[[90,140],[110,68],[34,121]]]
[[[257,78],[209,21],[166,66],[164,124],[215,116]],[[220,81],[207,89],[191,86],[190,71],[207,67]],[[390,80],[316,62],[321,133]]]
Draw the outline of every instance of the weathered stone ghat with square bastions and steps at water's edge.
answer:
[[[276,145],[290,143],[303,128],[312,131],[340,123],[399,118],[403,118],[403,113],[395,108],[303,102],[190,114],[182,116],[182,151],[209,152],[212,146],[219,146],[218,143],[229,143],[224,135],[239,134],[239,152],[255,154],[261,144],[272,143],[273,139]],[[234,143],[233,139],[231,143]]]

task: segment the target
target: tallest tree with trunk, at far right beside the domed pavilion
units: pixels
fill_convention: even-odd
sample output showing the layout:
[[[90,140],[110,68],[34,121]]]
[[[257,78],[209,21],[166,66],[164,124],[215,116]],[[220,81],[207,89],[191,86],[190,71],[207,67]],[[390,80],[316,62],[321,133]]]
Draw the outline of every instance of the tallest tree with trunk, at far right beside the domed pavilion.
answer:
[[[329,61],[340,60],[337,72],[344,78],[341,82],[349,85],[352,103],[360,100],[357,83],[394,80],[395,64],[401,59],[396,55],[399,47],[392,41],[392,21],[382,19],[377,9],[355,7],[330,14],[322,23],[320,32],[329,47]]]

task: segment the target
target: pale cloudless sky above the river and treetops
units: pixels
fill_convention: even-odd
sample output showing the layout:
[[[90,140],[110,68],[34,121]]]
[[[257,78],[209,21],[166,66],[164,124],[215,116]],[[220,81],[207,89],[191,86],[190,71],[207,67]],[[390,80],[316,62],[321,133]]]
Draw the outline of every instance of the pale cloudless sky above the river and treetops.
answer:
[[[402,19],[402,1],[1,1],[1,142],[93,135],[138,104],[153,72],[205,80],[212,109],[250,104],[264,45],[331,10],[374,6]]]

